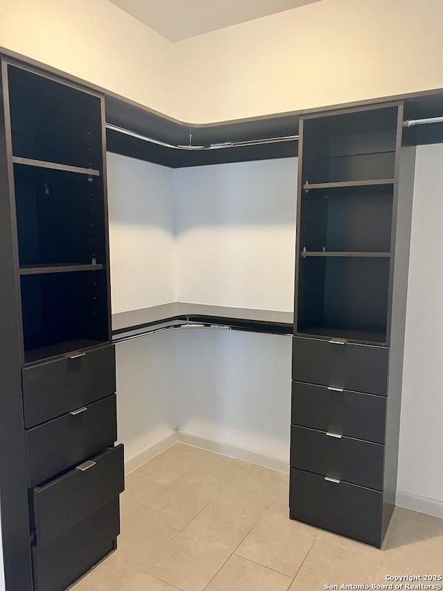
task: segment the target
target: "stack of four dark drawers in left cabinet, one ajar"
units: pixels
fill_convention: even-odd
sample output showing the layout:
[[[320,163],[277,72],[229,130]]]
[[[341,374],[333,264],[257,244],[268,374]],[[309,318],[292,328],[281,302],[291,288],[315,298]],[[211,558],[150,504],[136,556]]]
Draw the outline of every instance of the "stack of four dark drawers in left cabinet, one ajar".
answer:
[[[116,547],[124,489],[114,346],[22,369],[35,591],[61,591]]]

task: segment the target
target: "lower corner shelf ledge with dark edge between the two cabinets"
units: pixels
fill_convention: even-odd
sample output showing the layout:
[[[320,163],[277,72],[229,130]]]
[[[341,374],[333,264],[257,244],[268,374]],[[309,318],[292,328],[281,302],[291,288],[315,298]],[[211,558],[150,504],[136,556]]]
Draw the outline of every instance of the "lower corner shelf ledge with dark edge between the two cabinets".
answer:
[[[292,312],[172,302],[152,306],[151,308],[113,314],[112,335],[116,339],[134,330],[154,327],[177,320],[190,323],[221,324],[240,330],[272,334],[291,334],[293,330]]]

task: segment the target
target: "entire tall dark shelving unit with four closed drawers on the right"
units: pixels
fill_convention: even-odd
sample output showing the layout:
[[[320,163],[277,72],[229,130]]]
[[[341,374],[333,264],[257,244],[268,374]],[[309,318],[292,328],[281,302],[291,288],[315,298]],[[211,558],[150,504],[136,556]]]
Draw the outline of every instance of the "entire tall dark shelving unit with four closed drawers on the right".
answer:
[[[397,482],[415,161],[415,148],[401,146],[403,108],[300,121],[290,516],[376,547]],[[309,418],[307,385],[312,396],[328,392],[325,431]]]

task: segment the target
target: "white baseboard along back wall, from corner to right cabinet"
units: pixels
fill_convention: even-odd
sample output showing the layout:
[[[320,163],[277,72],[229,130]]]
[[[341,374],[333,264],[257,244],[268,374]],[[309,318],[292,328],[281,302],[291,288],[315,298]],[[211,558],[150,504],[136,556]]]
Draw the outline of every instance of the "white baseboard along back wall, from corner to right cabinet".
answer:
[[[289,460],[287,459],[266,454],[265,452],[235,446],[233,443],[214,441],[213,439],[201,437],[200,435],[193,435],[186,431],[178,431],[177,434],[178,440],[181,441],[181,443],[188,443],[188,445],[195,446],[196,448],[202,448],[210,452],[234,457],[235,459],[242,459],[251,464],[258,464],[258,466],[273,468],[273,470],[289,473]]]

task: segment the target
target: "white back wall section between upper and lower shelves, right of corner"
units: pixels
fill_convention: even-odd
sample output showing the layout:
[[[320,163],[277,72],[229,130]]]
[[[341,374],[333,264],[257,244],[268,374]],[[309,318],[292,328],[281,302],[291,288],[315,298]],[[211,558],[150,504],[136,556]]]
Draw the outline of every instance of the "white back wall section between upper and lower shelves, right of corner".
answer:
[[[177,299],[291,311],[297,159],[175,170]]]

